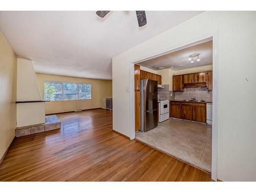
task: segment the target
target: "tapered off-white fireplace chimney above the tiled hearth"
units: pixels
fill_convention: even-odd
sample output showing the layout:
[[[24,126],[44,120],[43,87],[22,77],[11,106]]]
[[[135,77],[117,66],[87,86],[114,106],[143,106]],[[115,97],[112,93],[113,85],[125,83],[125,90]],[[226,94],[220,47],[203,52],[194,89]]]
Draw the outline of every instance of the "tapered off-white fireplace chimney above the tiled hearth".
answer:
[[[42,100],[32,60],[17,60],[17,101]],[[17,127],[45,123],[45,103],[17,103]]]

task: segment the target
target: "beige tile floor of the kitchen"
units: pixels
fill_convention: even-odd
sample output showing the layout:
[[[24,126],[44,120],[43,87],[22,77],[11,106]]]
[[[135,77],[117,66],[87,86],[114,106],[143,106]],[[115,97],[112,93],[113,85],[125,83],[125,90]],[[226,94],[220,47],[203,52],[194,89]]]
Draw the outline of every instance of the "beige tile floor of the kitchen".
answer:
[[[137,140],[211,171],[211,126],[178,119],[168,119],[153,130],[136,132]]]

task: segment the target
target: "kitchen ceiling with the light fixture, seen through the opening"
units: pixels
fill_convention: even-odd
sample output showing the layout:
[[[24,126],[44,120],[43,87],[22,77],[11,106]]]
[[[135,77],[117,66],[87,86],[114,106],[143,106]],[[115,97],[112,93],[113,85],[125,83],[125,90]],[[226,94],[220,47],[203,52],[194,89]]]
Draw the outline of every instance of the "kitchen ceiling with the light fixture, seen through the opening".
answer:
[[[195,58],[194,63],[191,63],[188,60],[189,55],[196,53],[200,54],[200,61]],[[178,51],[171,51],[166,55],[140,62],[138,65],[153,70],[160,70],[159,67],[163,67],[171,68],[174,71],[212,65],[212,40],[205,39],[195,42],[185,48],[179,48]]]

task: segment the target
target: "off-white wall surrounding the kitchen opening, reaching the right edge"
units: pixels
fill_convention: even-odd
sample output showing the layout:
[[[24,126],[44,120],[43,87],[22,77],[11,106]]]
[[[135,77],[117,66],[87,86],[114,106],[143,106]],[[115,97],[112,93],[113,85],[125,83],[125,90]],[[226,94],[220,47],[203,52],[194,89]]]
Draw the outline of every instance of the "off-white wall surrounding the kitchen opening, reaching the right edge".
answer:
[[[218,179],[256,181],[255,21],[256,12],[206,11],[114,57],[113,129],[131,135],[131,61],[218,32]]]

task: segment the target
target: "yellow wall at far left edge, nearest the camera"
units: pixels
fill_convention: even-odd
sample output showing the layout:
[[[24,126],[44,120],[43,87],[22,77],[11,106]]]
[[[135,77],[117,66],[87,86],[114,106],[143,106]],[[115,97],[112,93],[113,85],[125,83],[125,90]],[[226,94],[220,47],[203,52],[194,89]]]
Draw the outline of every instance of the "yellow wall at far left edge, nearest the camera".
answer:
[[[0,159],[14,138],[16,128],[17,58],[0,33]]]

